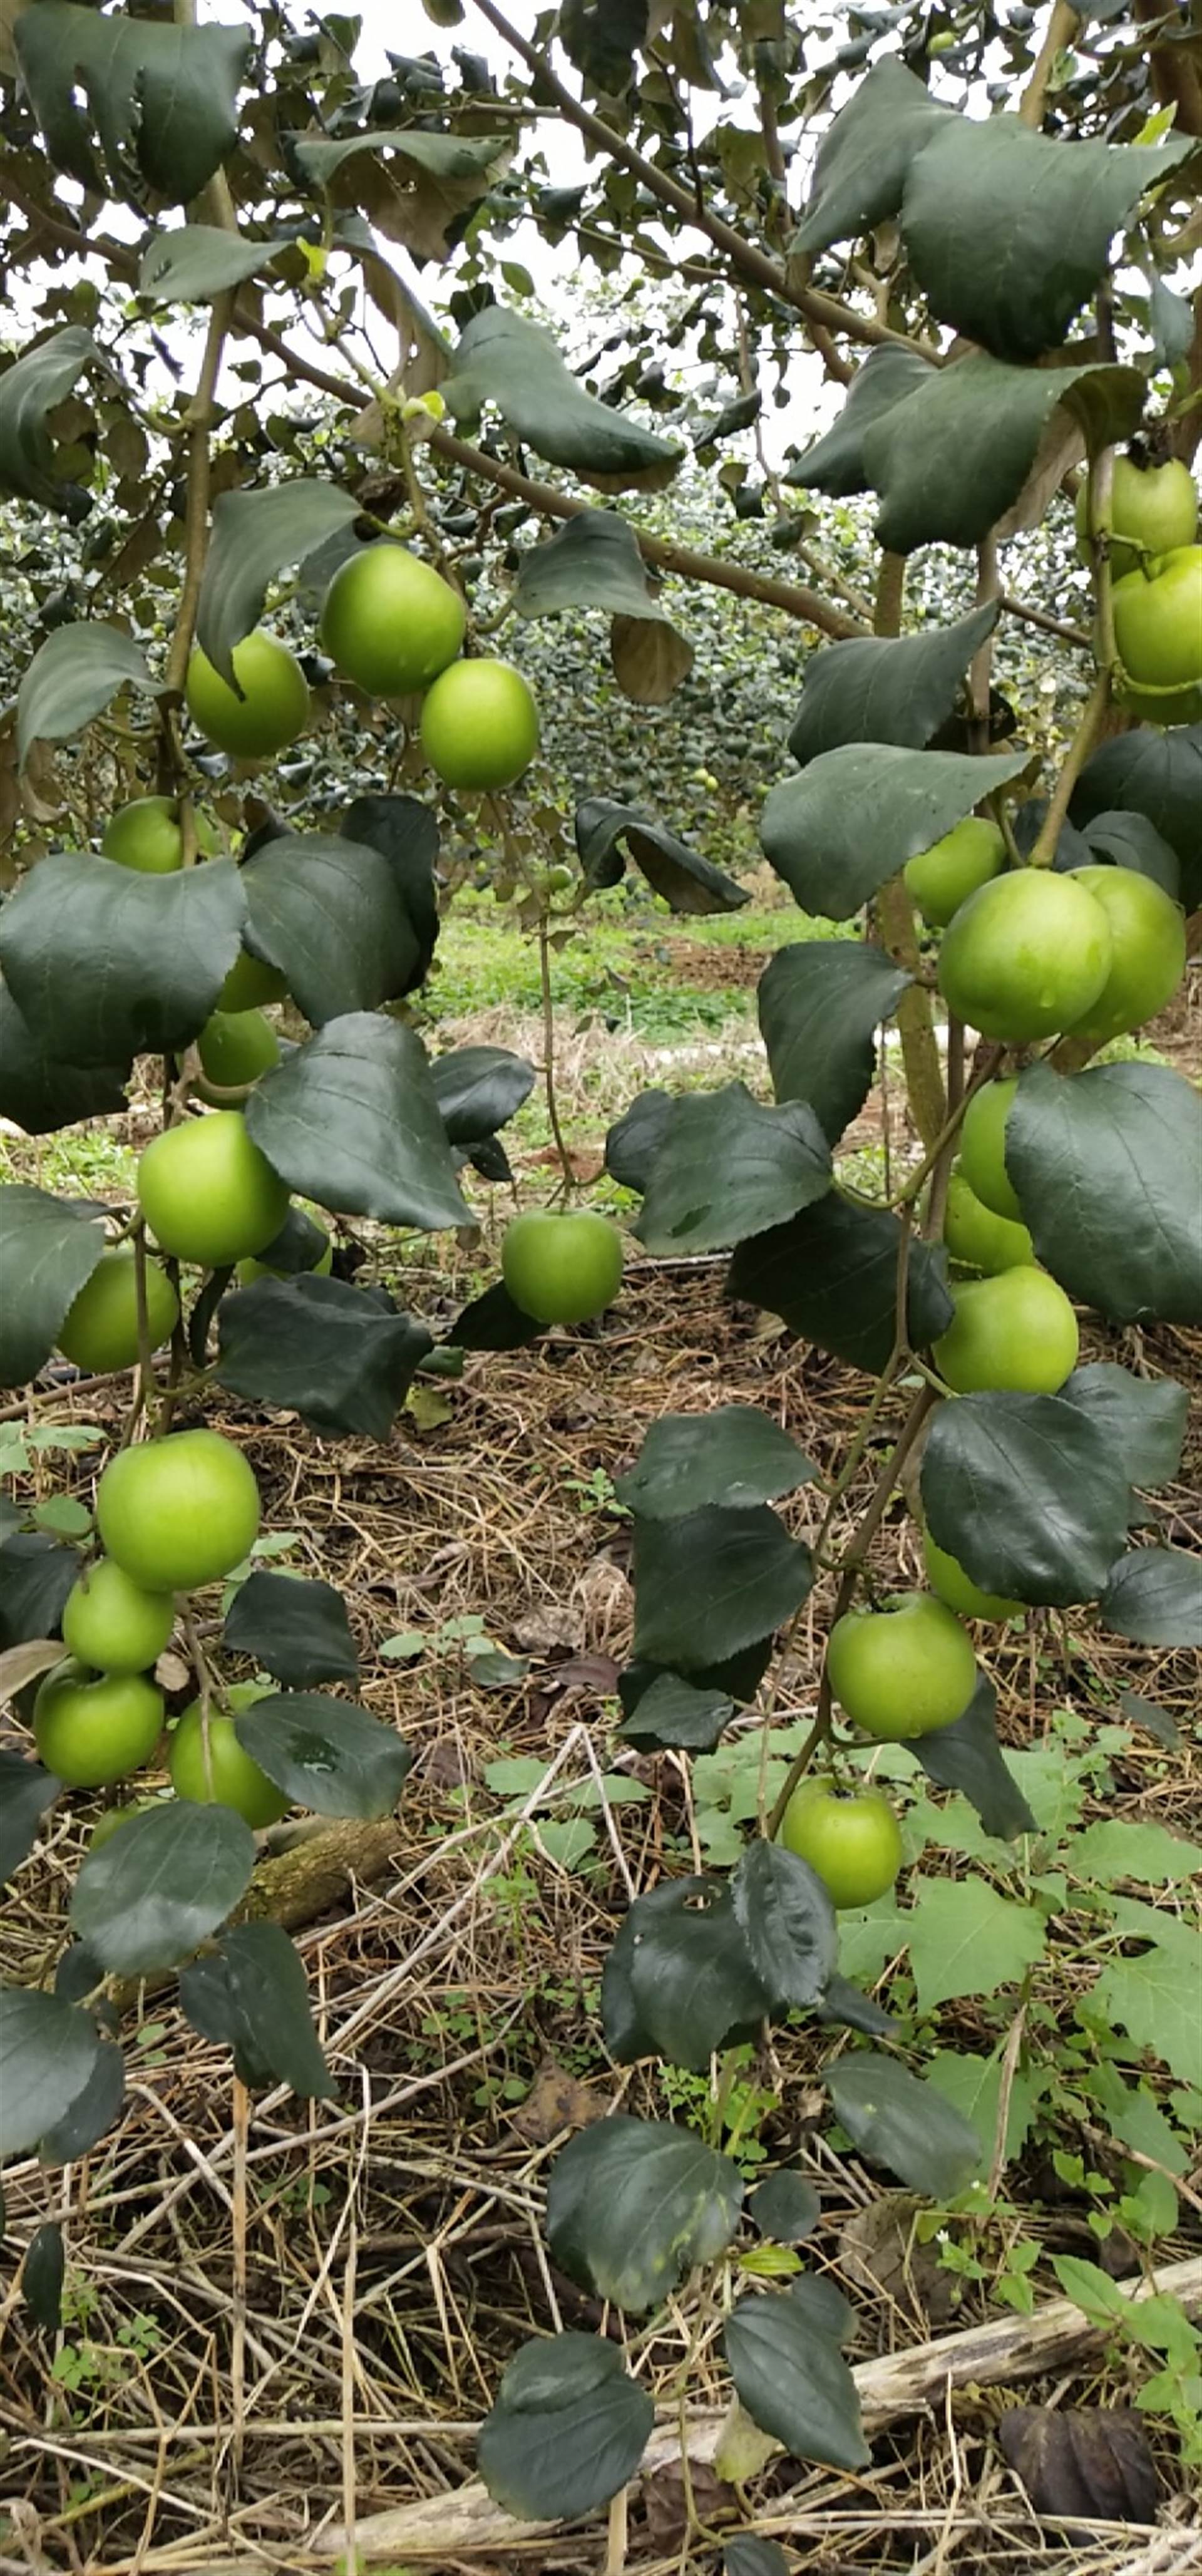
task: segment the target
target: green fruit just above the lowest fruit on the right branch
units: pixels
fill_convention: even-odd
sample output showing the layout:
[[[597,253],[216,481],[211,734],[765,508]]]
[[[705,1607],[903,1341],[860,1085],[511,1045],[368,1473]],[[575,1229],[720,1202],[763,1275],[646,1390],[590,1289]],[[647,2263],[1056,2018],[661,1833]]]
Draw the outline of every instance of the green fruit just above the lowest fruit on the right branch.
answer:
[[[847,1610],[826,1669],[839,1708],[875,1744],[952,1726],[975,1690],[973,1641],[929,1592],[903,1592],[893,1610]]]

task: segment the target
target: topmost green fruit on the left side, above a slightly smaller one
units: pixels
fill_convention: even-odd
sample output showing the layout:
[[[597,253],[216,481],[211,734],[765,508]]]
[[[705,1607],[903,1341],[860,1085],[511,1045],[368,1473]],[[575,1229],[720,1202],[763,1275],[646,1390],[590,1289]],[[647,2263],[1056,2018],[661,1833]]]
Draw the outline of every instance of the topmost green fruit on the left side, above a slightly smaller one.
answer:
[[[409,698],[456,659],[468,613],[407,546],[381,538],[335,572],[322,608],[322,649],[373,698]]]

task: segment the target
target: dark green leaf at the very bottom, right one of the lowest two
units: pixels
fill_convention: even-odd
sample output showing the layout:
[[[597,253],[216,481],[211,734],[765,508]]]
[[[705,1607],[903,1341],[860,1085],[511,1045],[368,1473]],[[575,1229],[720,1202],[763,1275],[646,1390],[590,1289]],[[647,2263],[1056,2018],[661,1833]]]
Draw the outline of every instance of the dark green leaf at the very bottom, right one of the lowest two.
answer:
[[[865,2468],[870,2450],[852,2372],[800,2300],[788,2290],[744,2295],[726,2318],[723,2342],[734,2385],[759,2432],[770,2432],[795,2460]]]

